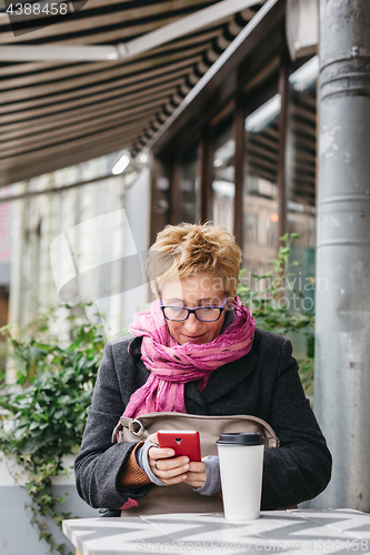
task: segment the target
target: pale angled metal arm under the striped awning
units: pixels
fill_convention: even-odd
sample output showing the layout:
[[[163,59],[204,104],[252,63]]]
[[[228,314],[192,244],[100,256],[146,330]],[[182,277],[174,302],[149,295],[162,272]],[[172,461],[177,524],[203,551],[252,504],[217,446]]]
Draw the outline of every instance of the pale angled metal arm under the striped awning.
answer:
[[[166,44],[184,34],[190,34],[204,26],[242,11],[263,0],[221,0],[220,2],[199,10],[190,16],[160,27],[154,31],[117,46],[52,46],[52,44],[4,44],[0,46],[0,61],[116,61],[127,60],[142,54],[161,44]]]

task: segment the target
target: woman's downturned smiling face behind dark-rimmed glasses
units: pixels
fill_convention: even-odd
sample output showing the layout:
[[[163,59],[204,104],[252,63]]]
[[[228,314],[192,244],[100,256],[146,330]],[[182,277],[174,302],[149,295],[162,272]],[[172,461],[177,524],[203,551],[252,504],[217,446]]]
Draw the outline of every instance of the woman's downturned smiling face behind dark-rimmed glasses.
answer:
[[[167,280],[161,286],[161,301],[164,305],[173,304],[188,309],[221,306],[224,299],[221,279],[209,278],[206,272],[189,275],[183,280]],[[220,334],[226,307],[216,322],[201,322],[194,314],[189,314],[183,322],[168,320],[170,334],[180,345],[209,343]]]

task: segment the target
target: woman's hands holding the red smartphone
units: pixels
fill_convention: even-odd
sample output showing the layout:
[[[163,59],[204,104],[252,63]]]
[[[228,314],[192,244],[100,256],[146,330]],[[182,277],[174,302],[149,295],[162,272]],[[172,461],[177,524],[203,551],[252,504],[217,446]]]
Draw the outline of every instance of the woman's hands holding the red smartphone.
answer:
[[[148,437],[149,441],[152,443],[158,444],[157,440],[157,434],[152,434]],[[162,482],[167,483],[169,481],[163,480],[163,471],[169,471],[171,468],[171,460],[173,457],[168,457],[163,458],[162,451],[159,447],[150,447],[148,455],[149,455],[149,464],[151,467],[152,473],[159,477],[159,480],[162,480]],[[157,453],[158,452],[158,453]],[[153,461],[159,462],[160,461],[160,467],[156,468]],[[170,463],[170,464],[167,464]],[[204,463],[201,462],[188,462],[187,466],[189,467],[188,471],[184,472],[176,472],[177,476],[176,478],[172,478],[170,483],[179,483],[179,482],[186,482],[187,484],[191,485],[191,487],[202,487],[206,484],[206,465]],[[159,472],[158,472],[159,471]]]

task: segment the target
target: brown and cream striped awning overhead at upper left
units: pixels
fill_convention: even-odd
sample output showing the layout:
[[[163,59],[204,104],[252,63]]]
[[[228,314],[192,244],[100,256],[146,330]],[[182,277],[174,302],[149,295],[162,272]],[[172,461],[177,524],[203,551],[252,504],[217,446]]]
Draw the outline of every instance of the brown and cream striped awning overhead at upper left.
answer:
[[[264,1],[211,22],[204,10],[224,0],[64,2],[74,12],[57,22],[11,22],[10,3],[0,1],[0,186],[123,149],[136,155]],[[192,13],[194,30],[127,56]]]

